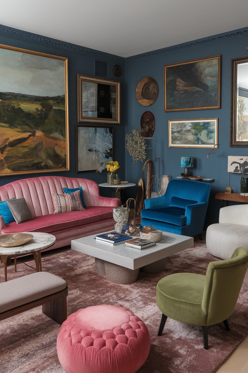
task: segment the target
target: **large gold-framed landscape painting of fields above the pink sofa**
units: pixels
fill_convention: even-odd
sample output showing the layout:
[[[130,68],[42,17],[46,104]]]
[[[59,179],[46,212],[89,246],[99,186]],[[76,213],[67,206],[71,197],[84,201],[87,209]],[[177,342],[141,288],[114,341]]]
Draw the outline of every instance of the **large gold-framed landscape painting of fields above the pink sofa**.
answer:
[[[0,176],[69,169],[67,59],[0,45]]]

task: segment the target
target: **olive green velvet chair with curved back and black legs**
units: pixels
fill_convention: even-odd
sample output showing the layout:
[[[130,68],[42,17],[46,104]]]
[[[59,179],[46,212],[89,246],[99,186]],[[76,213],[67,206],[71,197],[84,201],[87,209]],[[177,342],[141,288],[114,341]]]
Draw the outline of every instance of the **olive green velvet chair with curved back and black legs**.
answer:
[[[248,252],[238,247],[231,259],[211,261],[206,276],[174,273],[157,284],[157,305],[162,311],[158,335],[167,317],[186,324],[201,325],[203,345],[208,349],[208,326],[223,322],[233,313],[248,267]]]

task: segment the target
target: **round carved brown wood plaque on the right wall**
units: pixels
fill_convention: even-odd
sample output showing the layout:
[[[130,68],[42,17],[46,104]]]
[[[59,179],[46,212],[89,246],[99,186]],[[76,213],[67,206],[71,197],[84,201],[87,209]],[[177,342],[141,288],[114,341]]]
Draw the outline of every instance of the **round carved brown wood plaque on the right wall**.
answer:
[[[149,77],[141,79],[137,84],[135,96],[142,106],[152,105],[158,97],[157,82]]]

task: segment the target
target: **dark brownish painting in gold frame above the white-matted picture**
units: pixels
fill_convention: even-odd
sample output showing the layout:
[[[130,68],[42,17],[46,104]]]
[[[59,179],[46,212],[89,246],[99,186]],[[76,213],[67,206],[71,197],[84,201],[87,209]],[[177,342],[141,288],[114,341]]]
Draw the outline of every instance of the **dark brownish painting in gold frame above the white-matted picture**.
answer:
[[[164,111],[220,109],[220,58],[164,66]]]

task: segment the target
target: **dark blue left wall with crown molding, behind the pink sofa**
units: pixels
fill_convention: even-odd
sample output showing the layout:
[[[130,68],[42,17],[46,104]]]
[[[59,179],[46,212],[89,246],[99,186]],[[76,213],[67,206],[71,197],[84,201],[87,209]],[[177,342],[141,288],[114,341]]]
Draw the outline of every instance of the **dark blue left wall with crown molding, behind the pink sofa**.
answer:
[[[64,172],[48,172],[48,173],[33,173],[28,175],[12,175],[0,177],[0,185],[7,184],[14,180],[21,178],[37,177],[37,176],[69,176],[87,178],[97,182],[97,184],[107,182],[106,171],[102,173],[83,172],[76,173],[76,156],[75,156],[75,132],[77,124],[77,74],[94,75],[94,60],[106,61],[109,64],[109,79],[119,80],[121,91],[121,105],[120,115],[121,124],[113,125],[114,131],[114,160],[120,163],[120,177],[125,179],[125,110],[124,110],[124,80],[125,80],[125,66],[124,59],[118,56],[102,53],[95,50],[89,50],[83,47],[74,46],[60,42],[58,40],[48,39],[39,35],[28,34],[23,31],[7,28],[0,25],[0,44],[24,48],[32,51],[53,54],[55,56],[62,56],[68,58],[68,107],[69,107],[69,142],[70,142],[70,171]],[[120,65],[122,68],[122,75],[119,78],[113,74],[113,66]],[[2,79],[2,77],[1,77]],[[94,125],[94,123],[89,123]],[[97,124],[96,124],[97,125]],[[100,124],[102,126],[102,124]],[[112,124],[103,124],[103,126],[112,126]],[[110,195],[108,188],[101,188],[102,195]]]

